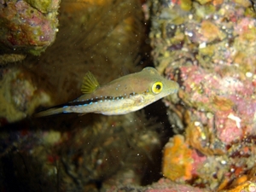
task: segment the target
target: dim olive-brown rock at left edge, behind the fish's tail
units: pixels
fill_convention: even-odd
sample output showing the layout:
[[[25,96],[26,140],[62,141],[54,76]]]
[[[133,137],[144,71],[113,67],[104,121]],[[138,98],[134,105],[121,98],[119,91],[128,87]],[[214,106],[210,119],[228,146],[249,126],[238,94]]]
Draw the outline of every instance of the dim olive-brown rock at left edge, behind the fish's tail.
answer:
[[[52,103],[49,94],[35,84],[32,73],[1,68],[0,76],[0,119],[9,123],[25,119],[38,103]]]

